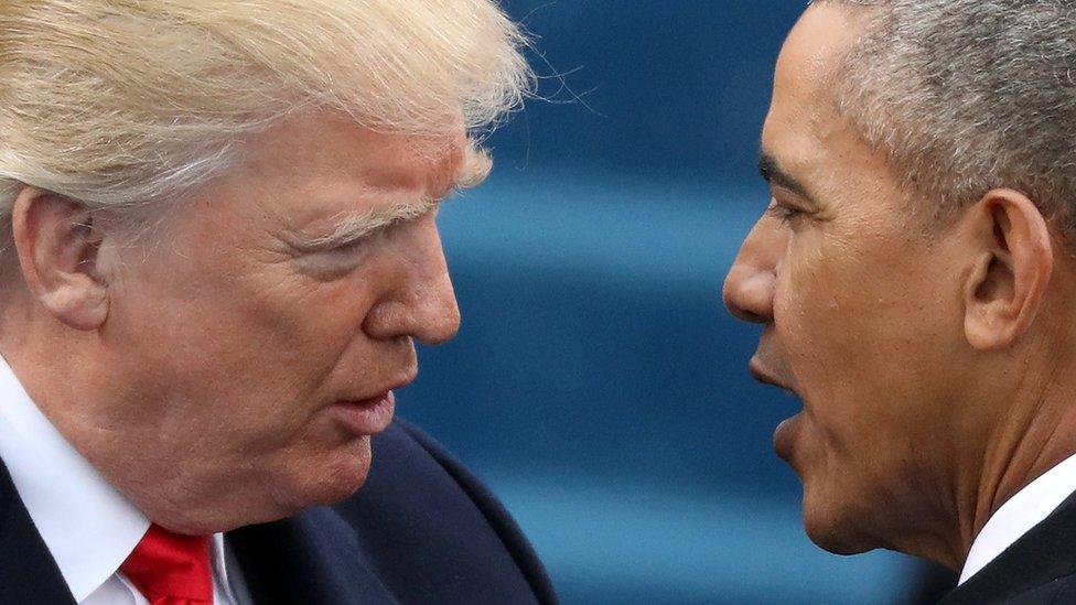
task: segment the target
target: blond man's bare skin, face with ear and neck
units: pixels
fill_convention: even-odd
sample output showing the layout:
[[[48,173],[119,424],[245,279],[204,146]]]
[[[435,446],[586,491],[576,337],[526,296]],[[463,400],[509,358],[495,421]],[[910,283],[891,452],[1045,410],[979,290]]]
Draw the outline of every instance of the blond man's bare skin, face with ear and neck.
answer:
[[[335,403],[410,382],[413,339],[459,327],[433,202],[466,149],[462,130],[290,118],[171,212],[155,245],[28,187],[3,355],[68,441],[169,529],[340,500],[386,423],[356,426]],[[341,225],[377,224],[315,249]]]

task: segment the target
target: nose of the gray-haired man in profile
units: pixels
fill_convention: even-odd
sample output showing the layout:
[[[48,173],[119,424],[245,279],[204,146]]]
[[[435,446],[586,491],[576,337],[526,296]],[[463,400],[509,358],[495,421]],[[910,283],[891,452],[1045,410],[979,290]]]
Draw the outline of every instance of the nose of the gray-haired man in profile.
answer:
[[[738,318],[760,324],[773,322],[777,266],[786,245],[786,229],[770,216],[758,219],[743,240],[722,292],[725,306]]]

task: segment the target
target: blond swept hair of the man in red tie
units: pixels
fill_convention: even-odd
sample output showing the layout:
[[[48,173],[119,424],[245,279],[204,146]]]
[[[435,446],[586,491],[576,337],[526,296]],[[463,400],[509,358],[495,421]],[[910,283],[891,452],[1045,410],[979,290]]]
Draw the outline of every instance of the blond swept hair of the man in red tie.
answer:
[[[493,0],[3,0],[0,246],[24,185],[98,208],[175,198],[297,111],[489,127],[532,86],[524,45]]]

